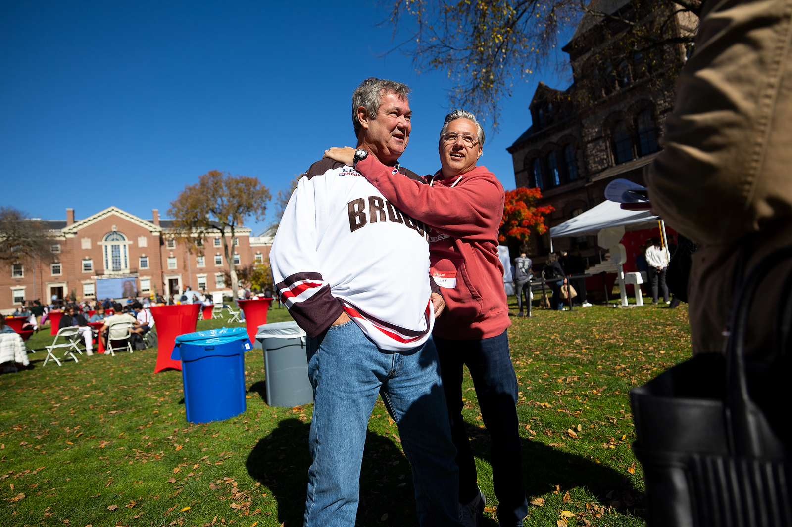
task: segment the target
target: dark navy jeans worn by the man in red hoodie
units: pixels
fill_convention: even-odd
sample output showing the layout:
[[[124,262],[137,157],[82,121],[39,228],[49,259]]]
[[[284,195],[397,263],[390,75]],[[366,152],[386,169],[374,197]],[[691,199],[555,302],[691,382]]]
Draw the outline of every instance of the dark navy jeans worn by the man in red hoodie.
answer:
[[[508,353],[506,332],[489,339],[448,340],[434,337],[440,375],[451,415],[451,439],[457,449],[459,502],[478,495],[476,463],[462,416],[462,366],[467,366],[476,389],[482,419],[492,444],[493,486],[500,505],[501,525],[523,525],[528,503],[523,485],[523,453],[517,419],[517,377]]]

